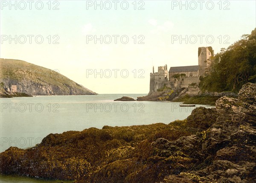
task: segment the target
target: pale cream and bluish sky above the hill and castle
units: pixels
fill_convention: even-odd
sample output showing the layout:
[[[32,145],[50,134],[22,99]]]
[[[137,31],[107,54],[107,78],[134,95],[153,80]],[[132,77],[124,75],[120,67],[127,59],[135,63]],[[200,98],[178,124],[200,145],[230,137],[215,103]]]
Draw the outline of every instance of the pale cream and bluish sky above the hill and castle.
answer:
[[[256,27],[255,0],[0,1],[0,58],[96,93],[148,93],[152,67],[198,64]],[[156,70],[156,69],[155,69]]]

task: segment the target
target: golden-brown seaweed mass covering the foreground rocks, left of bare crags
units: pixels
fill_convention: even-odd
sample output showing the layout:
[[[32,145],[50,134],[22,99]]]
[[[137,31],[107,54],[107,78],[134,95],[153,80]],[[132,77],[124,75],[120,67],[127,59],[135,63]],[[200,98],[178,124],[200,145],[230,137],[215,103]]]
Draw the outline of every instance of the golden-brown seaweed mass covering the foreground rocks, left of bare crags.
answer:
[[[103,129],[89,128],[81,132],[49,134],[34,148],[11,147],[1,153],[0,172],[77,180],[82,183],[104,182],[103,180],[122,182],[125,179],[130,181],[135,176],[134,170],[141,171],[141,168],[145,168],[146,165],[139,163],[140,155],[145,153],[148,157],[151,156],[152,141],[159,136],[170,140],[191,134],[185,130],[185,123],[180,121],[169,125],[157,123],[131,127],[104,126]],[[174,136],[175,129],[179,132]],[[181,133],[182,129],[184,130]],[[142,148],[143,142],[148,139],[148,143]],[[153,166],[151,171],[154,168],[156,167]]]

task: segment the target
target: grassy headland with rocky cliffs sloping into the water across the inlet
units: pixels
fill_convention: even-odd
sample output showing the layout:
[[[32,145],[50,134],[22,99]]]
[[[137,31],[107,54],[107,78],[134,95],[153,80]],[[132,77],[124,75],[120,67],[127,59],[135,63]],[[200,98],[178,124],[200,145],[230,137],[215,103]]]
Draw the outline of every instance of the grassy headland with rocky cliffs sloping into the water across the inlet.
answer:
[[[0,59],[0,83],[17,85],[17,92],[29,95],[95,95],[91,90],[44,67],[25,61]]]

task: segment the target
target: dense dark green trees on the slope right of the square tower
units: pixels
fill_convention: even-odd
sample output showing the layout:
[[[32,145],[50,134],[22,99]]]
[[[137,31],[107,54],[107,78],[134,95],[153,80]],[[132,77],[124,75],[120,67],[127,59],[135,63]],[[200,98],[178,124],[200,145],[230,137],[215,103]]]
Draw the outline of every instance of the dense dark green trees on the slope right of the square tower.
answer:
[[[200,77],[201,90],[237,92],[247,82],[256,82],[256,28],[242,35],[212,60],[209,72]]]

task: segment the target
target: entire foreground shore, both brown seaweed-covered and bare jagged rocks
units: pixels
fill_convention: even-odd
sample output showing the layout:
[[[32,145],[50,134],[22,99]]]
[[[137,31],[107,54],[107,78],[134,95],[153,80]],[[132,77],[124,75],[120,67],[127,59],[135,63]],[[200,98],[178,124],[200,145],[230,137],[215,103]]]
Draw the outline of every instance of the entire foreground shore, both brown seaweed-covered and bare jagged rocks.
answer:
[[[256,84],[183,121],[49,134],[34,148],[0,154],[0,172],[76,183],[252,183]]]

